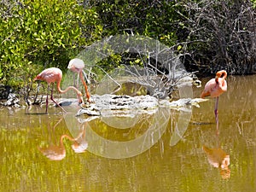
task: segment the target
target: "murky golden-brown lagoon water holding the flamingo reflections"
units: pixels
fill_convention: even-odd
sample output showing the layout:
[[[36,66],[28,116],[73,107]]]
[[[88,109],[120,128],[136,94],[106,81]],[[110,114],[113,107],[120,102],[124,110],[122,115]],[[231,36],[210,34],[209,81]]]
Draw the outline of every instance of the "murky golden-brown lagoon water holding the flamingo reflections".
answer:
[[[136,116],[124,129],[117,129],[113,125],[122,119],[113,119],[108,125],[109,119],[83,122],[73,113],[63,116],[60,108],[49,108],[49,115],[38,113],[44,108],[32,108],[32,115],[26,114],[26,109],[12,112],[4,108],[0,110],[2,189],[255,191],[255,79],[228,78],[228,91],[219,98],[218,136],[212,99],[201,102],[201,108],[192,108],[187,127],[177,126],[180,111],[166,109],[157,115]],[[202,84],[206,81],[203,79]],[[194,96],[200,96],[202,89],[195,88]],[[160,130],[164,124],[166,128]],[[150,125],[154,126],[148,131]],[[157,137],[151,137],[152,132]],[[108,153],[114,154],[122,143],[145,133],[143,141],[153,145],[143,153],[120,159],[99,155],[106,151],[104,142],[113,143],[117,150],[111,148]],[[178,139],[172,144],[174,136]],[[125,149],[142,147],[139,143],[131,146]]]

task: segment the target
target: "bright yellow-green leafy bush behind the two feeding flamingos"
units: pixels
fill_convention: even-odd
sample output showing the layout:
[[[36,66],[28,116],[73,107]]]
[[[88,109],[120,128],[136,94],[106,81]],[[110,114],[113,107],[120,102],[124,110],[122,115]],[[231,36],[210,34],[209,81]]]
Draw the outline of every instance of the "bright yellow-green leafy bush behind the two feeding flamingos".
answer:
[[[32,78],[44,67],[66,68],[79,47],[99,38],[102,32],[95,10],[84,9],[75,0],[9,1],[1,7],[3,84],[19,85],[24,74]],[[91,26],[88,32],[86,26]]]

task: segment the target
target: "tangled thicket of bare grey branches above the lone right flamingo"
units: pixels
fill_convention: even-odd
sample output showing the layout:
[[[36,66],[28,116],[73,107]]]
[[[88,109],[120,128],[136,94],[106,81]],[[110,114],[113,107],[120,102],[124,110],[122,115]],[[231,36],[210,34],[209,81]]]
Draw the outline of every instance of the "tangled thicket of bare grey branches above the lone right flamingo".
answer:
[[[188,15],[185,58],[187,66],[214,73],[223,68],[231,74],[256,70],[256,12],[249,0],[211,1],[183,4]],[[193,67],[192,67],[193,68]]]

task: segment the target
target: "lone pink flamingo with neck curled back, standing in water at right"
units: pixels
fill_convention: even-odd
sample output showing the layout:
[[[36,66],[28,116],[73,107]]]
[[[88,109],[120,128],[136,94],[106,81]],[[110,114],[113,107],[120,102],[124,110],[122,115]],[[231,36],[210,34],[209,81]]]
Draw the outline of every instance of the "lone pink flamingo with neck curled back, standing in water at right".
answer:
[[[217,124],[218,131],[218,96],[220,96],[224,91],[227,91],[227,82],[226,82],[227,73],[224,70],[218,71],[216,73],[215,79],[211,79],[207,82],[205,89],[201,93],[201,98],[206,96],[216,97],[215,102],[215,120]]]

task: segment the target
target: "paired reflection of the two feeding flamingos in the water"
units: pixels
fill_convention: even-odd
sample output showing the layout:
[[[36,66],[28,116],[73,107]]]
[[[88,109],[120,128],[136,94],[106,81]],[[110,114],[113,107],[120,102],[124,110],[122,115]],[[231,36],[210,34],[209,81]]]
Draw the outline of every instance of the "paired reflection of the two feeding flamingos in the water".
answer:
[[[84,127],[83,127],[84,128]],[[61,135],[60,144],[55,145],[51,144],[49,147],[46,148],[38,148],[38,150],[44,154],[49,160],[63,160],[66,157],[66,148],[64,146],[64,139],[67,138],[69,141],[73,142],[72,148],[75,153],[84,153],[85,150],[88,148],[87,141],[84,140],[85,138],[85,130],[79,134],[79,137],[73,138],[66,134]]]

